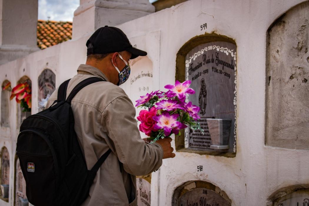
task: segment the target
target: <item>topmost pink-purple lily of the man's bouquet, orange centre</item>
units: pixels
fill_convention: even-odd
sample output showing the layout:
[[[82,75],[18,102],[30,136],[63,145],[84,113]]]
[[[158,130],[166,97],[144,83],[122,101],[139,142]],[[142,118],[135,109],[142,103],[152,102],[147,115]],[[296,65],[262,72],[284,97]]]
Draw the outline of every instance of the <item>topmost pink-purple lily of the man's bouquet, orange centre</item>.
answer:
[[[176,80],[175,85],[165,85],[164,88],[168,89],[166,96],[170,98],[177,96],[178,99],[183,102],[186,94],[195,93],[193,89],[189,88],[190,84],[190,80],[184,81],[183,83],[180,83],[178,80]]]

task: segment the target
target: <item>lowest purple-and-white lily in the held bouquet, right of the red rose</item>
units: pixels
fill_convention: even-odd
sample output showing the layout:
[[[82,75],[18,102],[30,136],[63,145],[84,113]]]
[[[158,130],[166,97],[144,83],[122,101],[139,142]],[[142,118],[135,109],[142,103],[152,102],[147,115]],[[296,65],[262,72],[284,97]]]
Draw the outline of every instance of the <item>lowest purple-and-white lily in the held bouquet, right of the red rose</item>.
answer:
[[[176,121],[178,117],[179,114],[170,115],[168,111],[163,111],[162,115],[152,117],[157,122],[154,128],[163,129],[164,135],[168,137],[171,134],[172,129],[179,129],[185,126]]]

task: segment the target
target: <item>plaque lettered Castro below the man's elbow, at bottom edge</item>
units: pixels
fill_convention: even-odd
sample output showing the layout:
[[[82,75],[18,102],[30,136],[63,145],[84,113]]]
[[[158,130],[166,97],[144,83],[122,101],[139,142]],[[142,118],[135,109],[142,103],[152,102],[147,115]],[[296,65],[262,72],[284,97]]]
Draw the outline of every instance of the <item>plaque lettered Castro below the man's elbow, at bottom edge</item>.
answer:
[[[136,178],[138,206],[150,206],[150,183],[142,178]]]

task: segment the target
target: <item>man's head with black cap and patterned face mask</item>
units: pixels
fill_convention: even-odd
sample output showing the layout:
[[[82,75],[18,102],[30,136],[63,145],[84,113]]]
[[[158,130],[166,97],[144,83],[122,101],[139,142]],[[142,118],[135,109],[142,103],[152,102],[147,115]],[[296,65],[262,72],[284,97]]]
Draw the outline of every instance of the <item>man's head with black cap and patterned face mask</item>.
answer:
[[[129,60],[146,56],[145,51],[133,48],[125,33],[116,27],[101,27],[87,40],[87,62],[101,70],[114,84],[129,76]]]

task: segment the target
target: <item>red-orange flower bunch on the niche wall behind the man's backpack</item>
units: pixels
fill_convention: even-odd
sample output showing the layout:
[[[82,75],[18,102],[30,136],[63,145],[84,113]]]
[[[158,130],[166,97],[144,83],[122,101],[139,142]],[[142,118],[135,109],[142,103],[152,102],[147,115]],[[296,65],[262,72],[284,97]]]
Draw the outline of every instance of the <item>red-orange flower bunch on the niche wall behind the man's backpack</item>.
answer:
[[[12,89],[10,99],[12,100],[14,97],[23,111],[31,111],[31,87],[28,82],[18,84]]]

